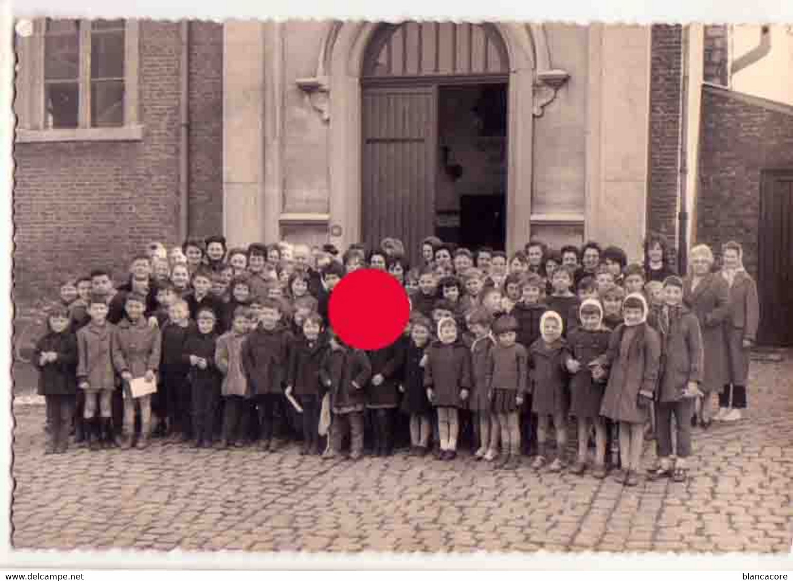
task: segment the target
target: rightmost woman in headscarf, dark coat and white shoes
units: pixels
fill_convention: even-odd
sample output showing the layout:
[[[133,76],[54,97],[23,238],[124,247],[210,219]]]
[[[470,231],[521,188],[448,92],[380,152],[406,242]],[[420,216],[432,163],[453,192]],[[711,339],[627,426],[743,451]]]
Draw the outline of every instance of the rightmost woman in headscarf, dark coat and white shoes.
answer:
[[[730,289],[727,300],[726,337],[730,385],[718,396],[716,419],[734,422],[741,419],[746,407],[746,379],[749,376],[749,354],[757,340],[760,304],[757,285],[743,267],[743,249],[737,242],[722,247],[721,276]]]

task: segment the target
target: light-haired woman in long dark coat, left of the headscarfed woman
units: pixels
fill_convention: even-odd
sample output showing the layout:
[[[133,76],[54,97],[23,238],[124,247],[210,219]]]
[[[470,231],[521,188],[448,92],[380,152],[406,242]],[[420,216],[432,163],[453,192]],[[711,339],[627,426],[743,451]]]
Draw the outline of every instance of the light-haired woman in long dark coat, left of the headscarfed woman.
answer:
[[[720,394],[730,381],[724,335],[730,287],[724,277],[712,272],[713,262],[710,247],[700,244],[692,248],[691,273],[683,281],[683,301],[699,319],[702,331],[705,362],[699,384],[703,396],[699,399],[698,415],[703,428],[711,425],[711,394]]]

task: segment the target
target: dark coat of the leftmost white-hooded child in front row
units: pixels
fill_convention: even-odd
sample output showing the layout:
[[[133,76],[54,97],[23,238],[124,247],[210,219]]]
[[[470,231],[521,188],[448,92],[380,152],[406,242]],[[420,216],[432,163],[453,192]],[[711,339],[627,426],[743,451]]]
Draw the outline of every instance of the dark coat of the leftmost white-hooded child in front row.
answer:
[[[424,387],[432,388],[435,407],[460,407],[460,392],[473,386],[471,354],[462,341],[432,342],[427,349]]]

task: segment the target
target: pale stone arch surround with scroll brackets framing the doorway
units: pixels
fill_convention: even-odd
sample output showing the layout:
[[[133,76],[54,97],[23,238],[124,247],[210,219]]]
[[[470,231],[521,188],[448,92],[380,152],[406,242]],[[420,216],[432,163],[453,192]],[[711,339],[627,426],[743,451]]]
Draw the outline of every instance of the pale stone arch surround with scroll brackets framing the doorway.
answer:
[[[362,72],[368,48],[383,27],[374,22],[328,24],[317,74],[298,80],[330,125],[329,239],[338,247],[363,238],[362,228]],[[553,100],[567,79],[552,70],[542,25],[492,24],[508,59],[508,151],[506,249],[530,236],[533,117]]]

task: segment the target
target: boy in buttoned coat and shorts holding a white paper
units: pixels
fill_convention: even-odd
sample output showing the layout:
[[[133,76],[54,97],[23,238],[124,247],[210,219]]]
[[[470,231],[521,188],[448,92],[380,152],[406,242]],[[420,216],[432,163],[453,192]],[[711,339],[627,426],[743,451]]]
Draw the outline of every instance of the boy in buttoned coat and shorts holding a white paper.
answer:
[[[144,449],[151,438],[151,394],[134,398],[130,383],[144,377],[147,382],[156,382],[162,338],[159,329],[150,327],[144,318],[146,297],[135,292],[127,296],[125,311],[127,318],[118,323],[113,334],[113,366],[121,375],[124,390],[124,428],[121,447],[134,445],[135,412],[140,411],[140,438],[137,446]]]

